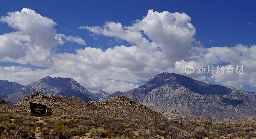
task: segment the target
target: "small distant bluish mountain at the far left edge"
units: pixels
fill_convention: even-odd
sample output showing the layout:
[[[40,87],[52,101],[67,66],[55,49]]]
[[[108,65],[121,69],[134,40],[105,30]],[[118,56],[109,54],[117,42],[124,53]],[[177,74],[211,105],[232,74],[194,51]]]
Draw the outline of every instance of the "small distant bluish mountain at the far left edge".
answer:
[[[0,96],[7,97],[9,94],[12,94],[18,91],[22,85],[16,82],[10,82],[8,80],[0,80]]]

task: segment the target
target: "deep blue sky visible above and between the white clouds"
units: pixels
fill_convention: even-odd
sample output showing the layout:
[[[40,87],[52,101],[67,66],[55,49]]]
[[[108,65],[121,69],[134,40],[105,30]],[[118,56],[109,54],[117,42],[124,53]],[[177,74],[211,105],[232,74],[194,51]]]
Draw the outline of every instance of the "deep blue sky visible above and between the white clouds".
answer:
[[[85,40],[86,46],[79,45],[76,42],[66,42],[64,45],[58,45],[55,53],[73,53],[76,49],[84,49],[85,47],[96,47],[106,50],[115,45],[125,45],[130,47],[133,43],[117,37],[109,37],[108,35],[96,35],[90,30],[78,29],[80,26],[99,26],[101,27],[108,21],[120,22],[123,26],[132,26],[136,19],[142,20],[147,16],[148,10],[170,13],[179,12],[186,13],[191,18],[191,24],[195,27],[196,33],[194,37],[196,41],[201,42],[204,48],[209,47],[234,47],[237,44],[250,47],[256,44],[256,3],[254,1],[7,1],[1,2],[0,17],[5,17],[7,12],[20,11],[22,8],[29,8],[43,17],[51,18],[57,25],[58,33],[66,36],[79,36]],[[16,31],[5,23],[0,23],[0,34]],[[145,34],[144,34],[145,35]],[[148,39],[148,37],[146,36]],[[160,46],[161,47],[161,46]],[[179,59],[180,60],[180,59]],[[184,59],[188,62],[188,59]],[[22,63],[13,60],[1,60],[0,66],[23,66],[32,70],[36,69],[52,69],[51,66],[44,66],[33,63]],[[3,62],[4,61],[4,62]],[[172,63],[173,64],[173,63]],[[217,64],[217,63],[215,63]],[[161,70],[163,70],[162,68]],[[58,70],[57,70],[58,71]],[[173,70],[175,71],[175,70]],[[141,82],[147,80],[148,77],[154,76],[148,73],[147,77],[140,76],[133,82],[135,87]],[[61,75],[54,72],[49,73],[52,76]],[[137,73],[133,73],[135,75]],[[45,75],[45,74],[44,74]],[[48,75],[48,73],[47,73]],[[77,73],[78,75],[78,73]],[[76,75],[76,76],[77,76]],[[88,74],[89,75],[89,74]],[[43,75],[42,75],[43,76]],[[63,74],[65,76],[65,74]],[[72,77],[72,76],[71,76]],[[75,78],[75,77],[73,77]],[[78,78],[78,77],[77,77]],[[87,78],[87,77],[85,77]],[[125,81],[131,83],[130,80],[114,79],[106,77],[105,79],[115,81]],[[197,77],[195,77],[197,78]],[[6,78],[7,79],[7,78]],[[17,79],[12,78],[9,80]],[[101,80],[98,77],[95,79]],[[203,79],[203,78],[197,78]],[[239,78],[237,78],[239,79]],[[19,79],[19,80],[25,80]],[[82,79],[81,79],[82,80]],[[85,80],[85,79],[84,79]],[[102,79],[103,80],[103,79]],[[102,81],[101,80],[101,81]],[[205,79],[203,79],[205,80]],[[235,79],[234,79],[235,80]],[[14,80],[15,81],[15,80]],[[209,80],[217,84],[226,85],[225,82],[217,80]],[[18,81],[17,81],[18,82]],[[20,81],[22,82],[22,81]],[[24,81],[23,81],[24,82]],[[104,85],[107,85],[102,81]],[[227,83],[228,81],[226,81]],[[82,83],[83,84],[83,83]],[[84,83],[86,84],[86,82]],[[248,83],[249,84],[249,83]],[[86,85],[84,85],[86,86]],[[256,91],[254,85],[245,84],[242,89]],[[99,88],[102,89],[102,88]],[[103,88],[104,89],[104,88]],[[92,89],[93,90],[93,89]],[[111,89],[109,89],[111,90]],[[114,90],[114,89],[112,89]]]

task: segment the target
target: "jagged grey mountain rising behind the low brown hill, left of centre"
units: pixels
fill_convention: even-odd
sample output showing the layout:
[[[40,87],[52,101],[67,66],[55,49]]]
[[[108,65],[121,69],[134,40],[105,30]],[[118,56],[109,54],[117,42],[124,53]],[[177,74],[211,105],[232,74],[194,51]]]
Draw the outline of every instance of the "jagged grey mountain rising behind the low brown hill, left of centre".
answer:
[[[44,95],[53,96],[74,96],[85,101],[98,100],[93,93],[81,86],[75,80],[60,77],[52,78],[49,76],[22,87],[17,92],[5,98],[5,100],[17,102],[33,92],[40,92]]]

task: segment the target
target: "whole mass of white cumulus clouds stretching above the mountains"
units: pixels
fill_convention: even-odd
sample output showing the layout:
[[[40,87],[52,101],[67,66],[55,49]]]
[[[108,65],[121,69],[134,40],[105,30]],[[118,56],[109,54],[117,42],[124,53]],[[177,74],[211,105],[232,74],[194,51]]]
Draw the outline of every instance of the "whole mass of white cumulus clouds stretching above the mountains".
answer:
[[[244,73],[186,76],[238,88],[244,84],[256,86],[256,46],[204,48],[196,41],[196,28],[185,13],[148,10],[145,17],[130,26],[120,22],[80,26],[79,29],[91,31],[93,36],[122,39],[131,46],[113,45],[106,50],[85,47],[76,49],[75,53],[53,50],[68,41],[86,45],[84,39],[57,33],[54,29],[57,24],[34,10],[23,8],[20,12],[8,12],[0,21],[16,30],[0,35],[1,61],[47,67],[0,66],[3,80],[26,85],[45,76],[69,77],[92,92],[104,89],[113,93],[134,89],[140,80],[148,80],[164,71],[186,75],[187,64],[197,67],[224,63],[223,66],[244,65]]]

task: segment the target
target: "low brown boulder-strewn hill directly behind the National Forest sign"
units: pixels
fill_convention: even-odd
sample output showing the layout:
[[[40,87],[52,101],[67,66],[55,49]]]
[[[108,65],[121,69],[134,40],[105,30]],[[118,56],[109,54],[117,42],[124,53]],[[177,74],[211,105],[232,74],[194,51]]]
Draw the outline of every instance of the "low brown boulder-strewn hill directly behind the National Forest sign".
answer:
[[[85,116],[101,116],[101,117],[116,117],[125,118],[136,116],[143,118],[145,115],[148,118],[164,119],[164,116],[145,107],[142,104],[136,103],[124,96],[113,96],[108,101],[90,101],[86,102],[79,98],[66,96],[46,96],[41,93],[32,93],[25,99],[18,101],[13,106],[1,103],[0,111],[12,112],[30,112],[29,102],[47,105],[52,108],[54,115],[85,115]]]

